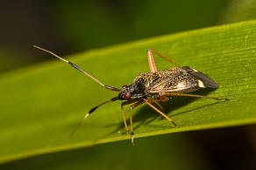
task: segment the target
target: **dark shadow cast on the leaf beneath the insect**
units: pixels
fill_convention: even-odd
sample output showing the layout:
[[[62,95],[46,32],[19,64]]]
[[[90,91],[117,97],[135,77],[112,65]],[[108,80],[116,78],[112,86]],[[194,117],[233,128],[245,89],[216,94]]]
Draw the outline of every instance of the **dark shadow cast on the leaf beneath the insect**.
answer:
[[[209,94],[210,92],[213,92],[215,90],[216,89],[203,89],[203,90],[200,90],[200,91],[197,91],[197,92],[192,92],[192,94],[207,96],[207,94]],[[185,111],[185,112],[178,112],[178,113],[173,114],[173,115],[171,114],[172,111],[174,111],[176,109],[179,109],[179,108],[181,108],[185,105],[188,105],[189,103],[194,102],[196,99],[198,99],[198,98],[172,97],[172,99],[170,99],[167,102],[160,102],[160,105],[163,106],[164,112],[168,116],[174,118],[175,116],[178,116],[178,115],[183,114],[183,113],[196,111],[196,110],[202,109],[203,107],[207,107],[207,106],[210,106],[210,105],[216,105],[217,103],[220,103],[220,101],[216,100],[216,102],[214,102],[214,100],[213,100],[214,103],[212,103],[212,104],[199,106],[196,109],[188,110],[188,111]],[[160,119],[165,119],[158,112],[155,112],[151,107],[149,107],[146,104],[144,104],[142,106],[139,106],[139,108],[136,108],[135,110],[137,110],[137,113],[133,114],[132,120],[133,120],[134,123],[139,122],[139,125],[133,126],[134,130],[139,128],[139,126],[147,125],[147,124],[153,122],[155,119],[159,119],[159,118]],[[127,112],[127,110],[125,110],[125,111],[126,111],[125,112],[126,115],[129,114],[129,112]],[[130,124],[129,119],[127,119],[127,124],[128,125]],[[110,125],[110,126],[114,126],[114,125]],[[172,126],[172,125],[170,125],[170,126]],[[117,129],[115,129],[110,134],[117,133],[117,131],[124,132],[124,123],[123,123],[123,121],[120,121],[120,124],[119,124],[119,126],[117,126]]]

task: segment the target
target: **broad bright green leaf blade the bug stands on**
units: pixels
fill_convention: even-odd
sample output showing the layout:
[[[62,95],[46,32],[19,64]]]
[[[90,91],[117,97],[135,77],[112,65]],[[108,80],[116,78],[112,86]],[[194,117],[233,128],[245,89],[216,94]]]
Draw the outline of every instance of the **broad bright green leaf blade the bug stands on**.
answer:
[[[196,92],[231,101],[174,98],[164,104],[172,126],[147,105],[133,111],[135,137],[256,122],[256,22],[230,24],[89,51],[71,59],[106,85],[132,83],[149,71],[147,49],[180,65],[203,71],[219,84]],[[40,52],[40,51],[39,51]],[[46,54],[48,55],[48,54]],[[155,56],[158,69],[172,67]],[[60,61],[12,71],[0,78],[0,162],[40,153],[130,139],[124,135],[120,102],[104,105],[75,133],[68,134],[93,106],[117,96]],[[128,116],[128,110],[126,108]],[[127,141],[127,145],[131,141]],[[135,139],[136,143],[136,139]]]

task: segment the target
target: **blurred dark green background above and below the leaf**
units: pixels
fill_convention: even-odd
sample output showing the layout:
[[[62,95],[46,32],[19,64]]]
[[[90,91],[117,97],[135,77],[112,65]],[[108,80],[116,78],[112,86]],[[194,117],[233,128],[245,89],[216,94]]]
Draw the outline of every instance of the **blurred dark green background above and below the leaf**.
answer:
[[[255,0],[1,2],[0,74],[52,59],[32,49],[32,44],[67,56],[255,17]],[[256,169],[255,129],[156,136],[137,139],[134,147],[127,141],[115,142],[17,160],[0,168]]]

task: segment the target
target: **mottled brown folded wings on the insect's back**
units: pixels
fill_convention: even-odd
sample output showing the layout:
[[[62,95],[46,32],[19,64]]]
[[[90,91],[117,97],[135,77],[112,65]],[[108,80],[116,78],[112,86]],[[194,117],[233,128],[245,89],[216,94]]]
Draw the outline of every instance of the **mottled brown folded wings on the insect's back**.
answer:
[[[199,88],[217,88],[217,83],[188,66],[158,71],[149,80],[148,93],[194,92]]]

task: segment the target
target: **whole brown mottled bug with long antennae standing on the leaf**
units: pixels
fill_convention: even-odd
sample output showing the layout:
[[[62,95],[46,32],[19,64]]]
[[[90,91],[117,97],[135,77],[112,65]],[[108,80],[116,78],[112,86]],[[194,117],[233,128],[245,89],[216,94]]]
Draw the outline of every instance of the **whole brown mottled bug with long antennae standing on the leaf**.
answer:
[[[195,69],[192,69],[188,66],[177,65],[176,63],[174,63],[174,61],[164,57],[157,51],[153,51],[153,50],[147,51],[148,64],[151,72],[140,73],[139,76],[133,80],[131,85],[123,85],[120,89],[118,89],[110,85],[104,85],[98,79],[92,77],[88,72],[83,71],[80,67],[71,63],[70,61],[64,58],[60,58],[60,56],[57,56],[52,51],[47,51],[37,45],[33,45],[33,46],[41,51],[46,51],[52,54],[54,57],[59,58],[60,60],[68,63],[69,65],[71,65],[78,71],[81,71],[83,74],[85,74],[89,78],[92,78],[94,81],[96,81],[96,83],[98,83],[99,85],[102,85],[104,88],[110,91],[119,92],[117,97],[104,101],[100,105],[96,105],[95,107],[90,109],[89,112],[85,114],[82,121],[77,126],[75,126],[75,129],[72,131],[72,133],[70,133],[69,137],[71,137],[75,133],[77,128],[82,125],[83,121],[87,119],[92,112],[95,112],[98,107],[116,100],[124,100],[124,102],[121,103],[121,112],[124,120],[124,128],[126,133],[129,133],[129,129],[128,129],[125,114],[124,114],[124,105],[132,104],[130,106],[130,126],[131,126],[133,145],[134,145],[134,142],[133,142],[134,133],[133,133],[133,126],[132,126],[133,124],[132,110],[138,107],[139,105],[146,103],[147,105],[152,107],[153,110],[160,113],[161,116],[163,116],[169,122],[171,122],[174,126],[176,126],[176,124],[174,123],[174,120],[170,119],[164,112],[162,112],[163,109],[159,101],[166,102],[172,96],[187,96],[187,97],[204,98],[204,99],[229,100],[229,99],[218,99],[214,97],[208,97],[208,96],[202,96],[202,95],[196,95],[196,94],[189,94],[188,92],[195,92],[196,90],[202,89],[202,88],[208,88],[208,87],[217,88],[218,85],[213,79],[209,78],[207,75],[203,74],[201,71],[196,71]],[[168,62],[172,63],[175,67],[157,71],[157,67],[153,60],[153,53],[158,55],[160,58],[163,58]],[[158,105],[160,109],[154,106],[153,104]]]

